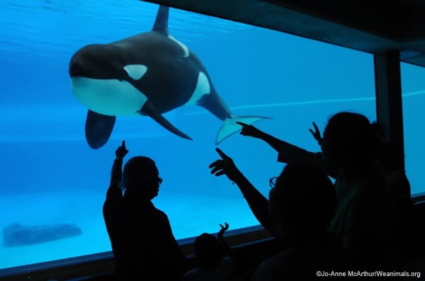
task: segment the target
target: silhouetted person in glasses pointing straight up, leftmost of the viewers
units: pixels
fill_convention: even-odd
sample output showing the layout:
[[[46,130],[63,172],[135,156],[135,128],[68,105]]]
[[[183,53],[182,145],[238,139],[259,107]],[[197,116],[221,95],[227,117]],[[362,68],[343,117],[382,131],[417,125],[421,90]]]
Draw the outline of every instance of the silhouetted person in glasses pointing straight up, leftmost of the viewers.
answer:
[[[186,258],[174,238],[169,218],[152,199],[162,178],[155,162],[128,154],[125,141],[115,150],[103,218],[115,258],[115,280],[181,280]]]

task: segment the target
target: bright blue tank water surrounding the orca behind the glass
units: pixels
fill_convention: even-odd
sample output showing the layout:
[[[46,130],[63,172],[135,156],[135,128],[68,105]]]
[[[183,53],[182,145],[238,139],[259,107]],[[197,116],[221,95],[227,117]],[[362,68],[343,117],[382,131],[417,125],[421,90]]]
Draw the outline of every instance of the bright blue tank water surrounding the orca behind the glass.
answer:
[[[84,45],[150,30],[157,7],[136,0],[0,2],[0,228],[73,223],[83,231],[33,246],[0,246],[0,268],[111,251],[101,207],[123,139],[128,158],[143,154],[157,162],[164,183],[154,203],[169,214],[177,239],[216,232],[223,222],[230,229],[258,224],[237,187],[210,175],[222,122],[203,108],[165,114],[193,141],[140,116],[118,117],[101,149],[86,144],[86,108],[72,94],[69,59]],[[376,119],[372,55],[173,8],[169,31],[203,61],[235,115],[272,117],[256,126],[276,137],[317,151],[308,131],[313,121],[323,129],[339,110]],[[412,193],[420,193],[424,134],[416,120],[423,120],[425,71],[403,64],[402,74],[407,175]],[[283,167],[276,151],[239,134],[220,148],[267,196],[268,178]]]

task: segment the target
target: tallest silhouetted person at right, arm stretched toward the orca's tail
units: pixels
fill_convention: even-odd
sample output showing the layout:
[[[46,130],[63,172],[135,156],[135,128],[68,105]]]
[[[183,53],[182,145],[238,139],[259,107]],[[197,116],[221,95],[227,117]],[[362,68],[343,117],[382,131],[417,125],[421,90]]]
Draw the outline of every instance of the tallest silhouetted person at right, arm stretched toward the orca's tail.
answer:
[[[344,125],[335,126],[339,121]],[[407,218],[412,214],[412,202],[409,200],[409,182],[400,166],[403,159],[394,154],[392,147],[388,147],[390,144],[380,142],[381,125],[376,122],[370,124],[363,115],[339,113],[329,120],[328,134],[334,137],[329,142],[322,138],[319,128],[313,122],[314,130],[310,129],[310,132],[314,139],[317,140],[319,145],[322,145],[322,148],[323,142],[327,142],[324,144],[325,147],[332,147],[335,144],[334,148],[337,152],[331,152],[333,153],[331,155],[335,156],[331,158],[336,159],[336,161],[326,161],[329,155],[323,156],[323,149],[322,152],[317,153],[305,151],[305,149],[300,149],[293,144],[270,136],[253,125],[246,125],[241,122],[239,122],[239,125],[242,125],[242,135],[262,139],[276,149],[279,153],[278,161],[316,165],[322,167],[323,171],[336,179],[339,211],[330,231],[339,237],[336,238],[336,240],[339,239],[339,242],[337,242],[339,246],[334,245],[334,247],[339,248],[344,253],[344,266],[354,265],[363,266],[363,268],[386,266],[391,270],[395,269],[394,262],[397,258],[393,253],[397,253],[397,251],[393,251],[385,257],[387,251],[384,248],[391,244],[389,249],[395,250],[397,243],[399,248],[408,246],[409,243],[406,243],[406,241],[410,233],[405,225],[409,223]],[[334,139],[339,140],[334,141]],[[343,161],[341,162],[341,160]],[[340,176],[339,173],[341,172],[343,175]],[[343,180],[343,182],[340,183],[340,180]],[[362,183],[360,184],[360,182]],[[351,185],[351,188],[346,188],[347,185]],[[361,185],[361,187],[356,185]],[[367,185],[376,186],[367,188],[365,187]],[[382,199],[379,198],[380,196],[382,196]],[[365,200],[365,197],[368,197],[368,199]],[[365,205],[362,205],[363,200]],[[380,200],[383,200],[382,204]],[[373,201],[375,201],[375,206]],[[381,210],[373,210],[379,208],[380,205],[383,205],[383,210],[388,210],[386,215],[382,215],[382,219],[392,220],[386,227],[382,228],[390,231],[390,235],[385,234],[382,236],[382,241],[374,243],[374,240],[380,240],[376,237],[380,235],[378,234],[379,227],[369,227],[367,224],[373,224],[370,219],[373,217],[378,219],[378,213],[382,214]],[[370,217],[364,213],[367,212],[368,208],[373,210]],[[344,213],[348,211],[349,213]],[[368,219],[363,220],[363,216]],[[376,224],[376,226],[378,225],[380,223]],[[346,226],[346,228],[336,231],[339,226]],[[400,231],[402,234],[399,234]],[[336,232],[339,234],[335,234]],[[363,243],[362,240],[368,241]],[[363,243],[363,246],[357,247],[357,243]],[[371,244],[373,245],[368,251],[368,246]],[[368,253],[372,253],[372,255]],[[365,256],[363,261],[361,261],[362,255]],[[374,258],[377,258],[377,260],[374,261]],[[339,258],[336,259],[336,261],[341,261]]]

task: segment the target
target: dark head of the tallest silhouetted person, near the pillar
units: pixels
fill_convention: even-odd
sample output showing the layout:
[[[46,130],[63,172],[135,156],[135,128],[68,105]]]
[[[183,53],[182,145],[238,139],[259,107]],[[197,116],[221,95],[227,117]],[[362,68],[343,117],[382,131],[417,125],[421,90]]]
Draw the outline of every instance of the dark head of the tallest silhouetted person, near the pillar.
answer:
[[[322,156],[340,170],[367,170],[378,155],[381,127],[358,113],[336,113],[324,129]]]

